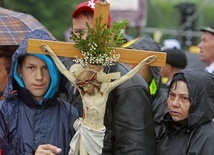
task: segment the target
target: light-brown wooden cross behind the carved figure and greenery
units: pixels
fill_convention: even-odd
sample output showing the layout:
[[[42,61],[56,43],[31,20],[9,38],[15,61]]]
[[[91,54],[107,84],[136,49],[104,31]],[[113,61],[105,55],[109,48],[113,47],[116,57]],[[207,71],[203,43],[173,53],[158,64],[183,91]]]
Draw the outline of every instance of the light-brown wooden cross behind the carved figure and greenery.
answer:
[[[95,28],[96,17],[99,17],[100,14],[103,14],[103,20],[101,21],[101,24],[107,23],[108,16],[109,16],[109,6],[110,4],[106,2],[96,2],[94,18],[93,18],[93,28]],[[40,40],[40,39],[28,39],[27,52],[46,54],[40,48],[41,44],[48,45],[57,56],[72,57],[72,58],[82,57],[79,49],[74,47],[74,43]],[[134,49],[125,49],[125,48],[115,48],[115,52],[120,54],[119,62],[124,62],[128,64],[138,64],[141,60],[143,60],[144,58],[150,55],[156,55],[157,57],[156,61],[151,63],[150,66],[164,67],[166,63],[165,52],[134,50]]]

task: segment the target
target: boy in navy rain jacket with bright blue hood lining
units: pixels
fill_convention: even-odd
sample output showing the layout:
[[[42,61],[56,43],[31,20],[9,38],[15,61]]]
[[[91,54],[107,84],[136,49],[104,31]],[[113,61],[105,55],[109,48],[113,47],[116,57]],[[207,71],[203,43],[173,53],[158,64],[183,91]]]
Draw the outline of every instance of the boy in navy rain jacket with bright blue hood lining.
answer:
[[[53,60],[26,52],[28,38],[51,40],[47,32],[35,30],[13,54],[5,99],[0,102],[0,148],[7,155],[38,150],[68,154],[78,111],[58,98],[63,77]],[[13,90],[17,93],[11,95]]]

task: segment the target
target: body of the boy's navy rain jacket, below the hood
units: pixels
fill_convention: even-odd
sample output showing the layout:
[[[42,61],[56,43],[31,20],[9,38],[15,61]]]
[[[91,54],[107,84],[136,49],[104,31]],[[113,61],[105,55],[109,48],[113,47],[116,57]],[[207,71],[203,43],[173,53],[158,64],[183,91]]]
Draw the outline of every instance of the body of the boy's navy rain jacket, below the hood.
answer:
[[[19,95],[18,95],[19,94]],[[67,154],[75,134],[77,110],[57,96],[43,101],[31,98],[26,89],[0,102],[0,148],[7,155],[32,155],[41,144],[52,144]]]

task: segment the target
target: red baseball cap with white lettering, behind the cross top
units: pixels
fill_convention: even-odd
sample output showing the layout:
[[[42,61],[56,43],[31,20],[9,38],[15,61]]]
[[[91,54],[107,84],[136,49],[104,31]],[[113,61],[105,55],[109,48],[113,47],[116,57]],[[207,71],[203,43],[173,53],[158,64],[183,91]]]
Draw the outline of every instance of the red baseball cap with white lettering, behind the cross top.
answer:
[[[95,3],[98,0],[89,0],[83,3],[80,3],[76,9],[74,10],[72,17],[75,18],[79,13],[83,12],[83,11],[89,11],[89,12],[94,12],[95,9]],[[108,16],[108,27],[110,27],[111,25],[111,17],[110,14]]]

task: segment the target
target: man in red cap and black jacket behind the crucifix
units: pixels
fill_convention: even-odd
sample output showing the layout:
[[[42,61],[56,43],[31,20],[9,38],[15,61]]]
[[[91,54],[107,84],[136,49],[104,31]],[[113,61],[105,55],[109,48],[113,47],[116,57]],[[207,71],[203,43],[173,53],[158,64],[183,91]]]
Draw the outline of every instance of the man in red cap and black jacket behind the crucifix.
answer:
[[[93,0],[81,3],[73,12],[72,27],[75,34],[87,29],[86,22],[90,26],[93,25],[94,3]],[[120,72],[124,75],[129,69],[122,63],[116,63],[110,68],[106,67],[104,71]],[[156,143],[152,119],[148,86],[139,75],[135,75],[109,94],[104,118],[106,132],[102,154],[155,154]]]

